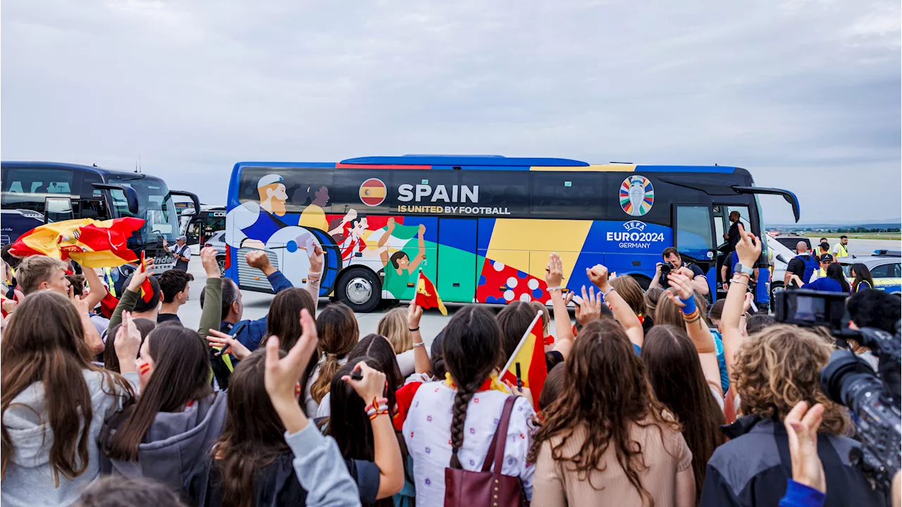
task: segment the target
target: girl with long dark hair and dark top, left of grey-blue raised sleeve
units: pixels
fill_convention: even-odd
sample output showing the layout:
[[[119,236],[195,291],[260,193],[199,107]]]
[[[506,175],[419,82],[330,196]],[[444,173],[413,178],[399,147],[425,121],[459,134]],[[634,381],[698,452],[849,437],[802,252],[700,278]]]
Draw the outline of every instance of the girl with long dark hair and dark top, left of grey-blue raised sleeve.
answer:
[[[280,351],[280,357],[285,355]],[[265,362],[266,351],[260,349],[229,377],[222,435],[186,483],[196,505],[303,505],[307,500],[291,463],[294,454],[285,442],[285,426],[266,393]]]

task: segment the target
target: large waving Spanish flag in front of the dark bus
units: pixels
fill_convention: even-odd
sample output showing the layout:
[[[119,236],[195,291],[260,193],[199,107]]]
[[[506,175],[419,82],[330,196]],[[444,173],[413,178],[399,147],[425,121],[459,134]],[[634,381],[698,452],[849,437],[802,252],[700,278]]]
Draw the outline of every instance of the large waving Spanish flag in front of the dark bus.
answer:
[[[143,219],[133,217],[53,222],[19,236],[10,253],[16,257],[47,255],[61,261],[72,259],[85,268],[113,268],[138,260],[126,246],[126,240],[143,225]]]

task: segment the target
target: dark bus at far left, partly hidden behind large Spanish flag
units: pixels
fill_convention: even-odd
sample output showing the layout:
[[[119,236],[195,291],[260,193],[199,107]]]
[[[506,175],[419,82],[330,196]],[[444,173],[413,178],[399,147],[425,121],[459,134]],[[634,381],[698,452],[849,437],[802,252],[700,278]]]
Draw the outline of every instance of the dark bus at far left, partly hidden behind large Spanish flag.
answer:
[[[128,247],[136,256],[145,251],[165,271],[174,260],[163,250],[162,239],[173,244],[179,233],[172,196],[188,197],[199,207],[196,195],[170,190],[165,181],[143,173],[69,163],[0,161],[0,244],[60,220],[139,217],[146,222],[129,238]],[[124,266],[120,272],[127,276],[132,270]]]

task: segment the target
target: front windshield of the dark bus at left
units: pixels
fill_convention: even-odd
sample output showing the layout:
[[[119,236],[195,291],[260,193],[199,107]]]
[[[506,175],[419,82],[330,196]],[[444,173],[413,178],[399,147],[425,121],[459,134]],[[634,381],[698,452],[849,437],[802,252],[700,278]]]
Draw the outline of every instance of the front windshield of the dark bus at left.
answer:
[[[179,217],[164,181],[146,176],[111,176],[108,182],[131,187],[138,194],[138,213],[133,215],[128,211],[128,202],[122,192],[110,192],[117,217],[143,218],[146,220],[141,228],[143,237],[161,235],[168,241],[175,241],[179,233]]]

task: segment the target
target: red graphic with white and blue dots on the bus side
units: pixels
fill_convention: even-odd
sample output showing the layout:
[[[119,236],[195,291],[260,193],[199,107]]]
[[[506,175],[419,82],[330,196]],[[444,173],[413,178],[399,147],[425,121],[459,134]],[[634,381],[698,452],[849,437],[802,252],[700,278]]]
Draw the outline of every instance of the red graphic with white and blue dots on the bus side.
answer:
[[[476,300],[486,303],[507,304],[511,301],[551,300],[544,280],[521,272],[500,261],[485,259],[479,281],[476,285]]]

